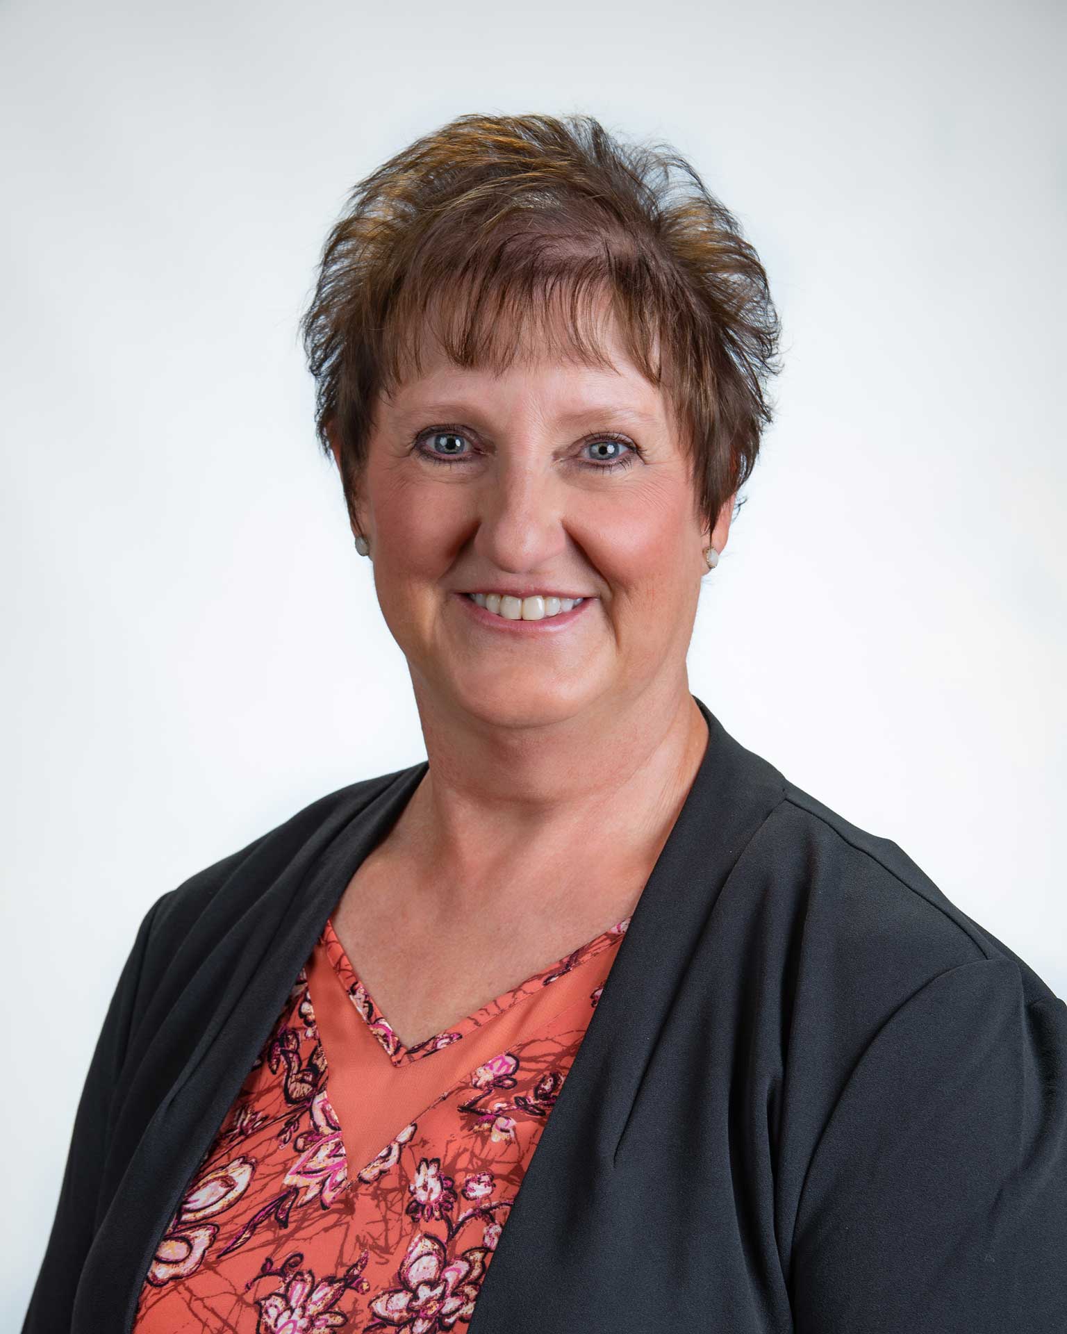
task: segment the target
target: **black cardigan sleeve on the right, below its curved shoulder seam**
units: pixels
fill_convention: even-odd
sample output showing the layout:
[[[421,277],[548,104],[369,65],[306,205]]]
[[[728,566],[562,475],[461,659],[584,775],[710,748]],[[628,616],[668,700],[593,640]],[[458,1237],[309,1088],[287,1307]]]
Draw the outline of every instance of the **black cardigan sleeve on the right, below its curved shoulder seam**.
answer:
[[[1067,1330],[1067,1006],[1012,959],[939,974],[871,1041],[812,1154],[796,1334]]]

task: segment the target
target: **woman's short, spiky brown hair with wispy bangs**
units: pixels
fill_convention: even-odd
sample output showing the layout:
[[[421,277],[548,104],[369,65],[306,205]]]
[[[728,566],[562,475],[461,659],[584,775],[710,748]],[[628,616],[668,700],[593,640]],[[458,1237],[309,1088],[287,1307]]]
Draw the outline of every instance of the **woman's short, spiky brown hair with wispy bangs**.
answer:
[[[767,275],[684,157],[578,115],[459,116],[353,188],[300,323],[349,512],[379,392],[419,368],[425,331],[459,366],[504,366],[531,324],[543,342],[562,324],[568,352],[603,362],[583,325],[604,293],[687,428],[714,524],[771,422],[780,327]]]

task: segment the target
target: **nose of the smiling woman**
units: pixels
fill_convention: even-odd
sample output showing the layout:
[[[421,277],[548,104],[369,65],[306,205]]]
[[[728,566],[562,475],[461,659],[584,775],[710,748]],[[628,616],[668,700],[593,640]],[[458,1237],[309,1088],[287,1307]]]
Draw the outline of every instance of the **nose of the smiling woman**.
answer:
[[[499,459],[477,487],[473,546],[507,574],[548,568],[567,548],[564,488],[543,456]]]

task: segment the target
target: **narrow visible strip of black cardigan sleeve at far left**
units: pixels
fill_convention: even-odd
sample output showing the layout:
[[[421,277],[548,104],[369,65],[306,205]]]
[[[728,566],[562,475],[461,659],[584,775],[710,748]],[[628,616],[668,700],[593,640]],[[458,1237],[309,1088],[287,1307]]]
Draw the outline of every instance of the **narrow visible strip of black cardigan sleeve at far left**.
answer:
[[[71,1325],[81,1266],[99,1221],[101,1171],[109,1141],[111,1093],[123,1066],[136,1013],[152,923],[169,892],[159,898],[141,920],[96,1041],[75,1115],[59,1205],[23,1334],[53,1334]]]

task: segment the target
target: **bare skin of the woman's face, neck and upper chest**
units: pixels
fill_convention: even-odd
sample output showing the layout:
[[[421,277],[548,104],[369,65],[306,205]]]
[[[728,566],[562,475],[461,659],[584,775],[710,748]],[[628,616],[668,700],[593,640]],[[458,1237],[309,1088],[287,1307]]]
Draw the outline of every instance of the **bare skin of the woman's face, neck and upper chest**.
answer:
[[[429,771],[333,923],[408,1045],[632,911],[707,743],[686,652],[734,498],[708,532],[667,399],[602,346],[503,374],[436,352],[375,414],[356,523]],[[457,462],[424,456],[443,435]],[[508,587],[591,602],[511,635],[456,596]]]

